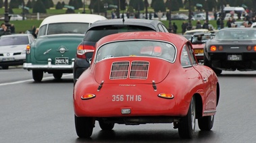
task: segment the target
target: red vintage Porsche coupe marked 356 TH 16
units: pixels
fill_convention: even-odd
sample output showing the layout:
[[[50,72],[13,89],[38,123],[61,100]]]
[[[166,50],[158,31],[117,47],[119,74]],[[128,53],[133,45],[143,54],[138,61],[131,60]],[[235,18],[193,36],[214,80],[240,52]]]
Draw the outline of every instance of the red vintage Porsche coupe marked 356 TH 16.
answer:
[[[211,68],[199,65],[191,43],[177,34],[126,32],[101,38],[91,66],[74,85],[76,133],[89,138],[95,121],[171,124],[193,138],[196,120],[211,130],[220,85]]]

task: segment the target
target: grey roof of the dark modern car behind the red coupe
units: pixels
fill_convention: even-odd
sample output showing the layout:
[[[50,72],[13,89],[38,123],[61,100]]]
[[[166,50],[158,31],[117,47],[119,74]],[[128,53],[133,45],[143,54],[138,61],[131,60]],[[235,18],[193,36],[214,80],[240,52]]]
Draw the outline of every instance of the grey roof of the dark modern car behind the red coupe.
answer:
[[[155,27],[157,27],[157,24],[161,23],[161,21],[158,20],[149,20],[149,19],[107,19],[104,21],[96,21],[93,23],[89,30],[91,28],[95,28],[98,26],[120,26],[120,25],[130,25],[130,26],[147,26],[149,28],[152,28],[155,30]]]

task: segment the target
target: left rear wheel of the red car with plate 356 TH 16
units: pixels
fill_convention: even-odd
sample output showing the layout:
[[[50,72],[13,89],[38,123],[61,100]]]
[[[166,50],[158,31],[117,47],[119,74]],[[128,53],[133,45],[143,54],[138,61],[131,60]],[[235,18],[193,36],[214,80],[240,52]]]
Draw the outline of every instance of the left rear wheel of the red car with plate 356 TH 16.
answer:
[[[75,126],[79,138],[90,138],[93,134],[94,122],[92,117],[77,117],[75,115]]]

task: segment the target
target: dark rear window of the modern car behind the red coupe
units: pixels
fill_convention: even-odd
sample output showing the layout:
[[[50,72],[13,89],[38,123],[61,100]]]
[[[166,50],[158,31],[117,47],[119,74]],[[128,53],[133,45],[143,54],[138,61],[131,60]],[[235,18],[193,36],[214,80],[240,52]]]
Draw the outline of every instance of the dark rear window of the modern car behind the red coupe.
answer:
[[[84,41],[97,42],[104,36],[110,34],[118,34],[121,32],[141,32],[141,31],[155,31],[145,26],[99,26],[88,30],[84,37]]]

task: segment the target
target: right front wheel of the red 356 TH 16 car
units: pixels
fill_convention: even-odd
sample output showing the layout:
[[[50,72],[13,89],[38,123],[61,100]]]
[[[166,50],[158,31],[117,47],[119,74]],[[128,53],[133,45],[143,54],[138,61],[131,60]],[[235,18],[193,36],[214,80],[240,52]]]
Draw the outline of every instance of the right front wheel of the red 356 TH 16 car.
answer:
[[[200,130],[209,131],[213,128],[214,115],[201,117],[198,119],[198,126]]]

